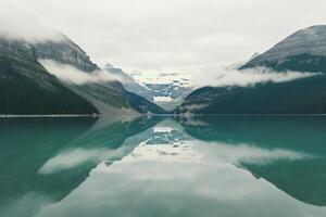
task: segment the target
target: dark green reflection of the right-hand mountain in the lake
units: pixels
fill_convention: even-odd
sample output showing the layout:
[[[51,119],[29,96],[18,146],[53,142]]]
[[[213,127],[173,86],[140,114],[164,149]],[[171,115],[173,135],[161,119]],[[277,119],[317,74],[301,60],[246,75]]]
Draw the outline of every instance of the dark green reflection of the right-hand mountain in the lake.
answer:
[[[249,159],[241,162],[241,166],[304,203],[326,205],[326,117],[203,116],[191,120],[204,123],[201,127],[187,119],[180,122],[192,137],[206,143],[231,145],[241,154],[246,153],[241,151],[246,145],[274,153],[285,150],[280,161],[253,164]]]

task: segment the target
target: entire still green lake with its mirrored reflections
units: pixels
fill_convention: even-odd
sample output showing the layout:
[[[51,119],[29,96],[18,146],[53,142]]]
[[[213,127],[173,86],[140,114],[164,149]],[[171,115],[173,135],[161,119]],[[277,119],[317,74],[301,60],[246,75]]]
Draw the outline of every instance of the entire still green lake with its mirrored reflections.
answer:
[[[326,216],[326,117],[0,118],[0,216]]]

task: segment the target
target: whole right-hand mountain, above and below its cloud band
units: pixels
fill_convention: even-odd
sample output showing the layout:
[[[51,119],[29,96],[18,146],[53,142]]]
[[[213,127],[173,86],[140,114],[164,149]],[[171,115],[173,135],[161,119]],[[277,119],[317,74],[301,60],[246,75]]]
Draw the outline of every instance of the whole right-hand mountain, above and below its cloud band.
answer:
[[[253,67],[269,67],[279,75],[288,71],[314,74],[289,81],[248,87],[204,87],[190,93],[175,113],[326,113],[326,26],[313,26],[294,33],[240,69]]]

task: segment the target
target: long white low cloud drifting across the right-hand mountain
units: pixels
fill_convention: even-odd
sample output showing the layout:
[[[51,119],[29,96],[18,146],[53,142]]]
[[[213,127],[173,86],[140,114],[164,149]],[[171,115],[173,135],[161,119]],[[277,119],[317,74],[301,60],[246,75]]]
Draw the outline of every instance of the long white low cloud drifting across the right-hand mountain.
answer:
[[[246,71],[226,69],[221,67],[214,73],[198,73],[190,79],[191,86],[199,88],[212,87],[247,87],[261,82],[285,82],[293,79],[318,75],[318,73],[275,72],[271,68],[258,67]]]

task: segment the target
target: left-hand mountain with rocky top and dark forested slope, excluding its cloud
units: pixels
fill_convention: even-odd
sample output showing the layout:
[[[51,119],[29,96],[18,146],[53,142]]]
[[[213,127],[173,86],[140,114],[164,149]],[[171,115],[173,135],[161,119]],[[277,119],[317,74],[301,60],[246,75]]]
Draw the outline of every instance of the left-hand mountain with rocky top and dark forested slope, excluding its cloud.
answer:
[[[66,36],[26,42],[0,40],[0,114],[165,113],[124,89],[118,80],[71,84],[48,72],[39,60],[71,65],[82,73],[100,68]]]

